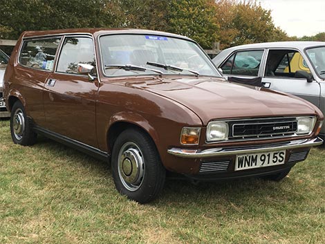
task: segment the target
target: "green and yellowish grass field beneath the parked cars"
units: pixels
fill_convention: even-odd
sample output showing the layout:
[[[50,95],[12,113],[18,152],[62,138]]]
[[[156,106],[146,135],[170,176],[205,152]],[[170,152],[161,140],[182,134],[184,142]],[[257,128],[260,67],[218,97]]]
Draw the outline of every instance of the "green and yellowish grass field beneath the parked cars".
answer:
[[[167,180],[153,203],[120,196],[104,162],[0,121],[0,243],[325,243],[325,150],[282,182]]]

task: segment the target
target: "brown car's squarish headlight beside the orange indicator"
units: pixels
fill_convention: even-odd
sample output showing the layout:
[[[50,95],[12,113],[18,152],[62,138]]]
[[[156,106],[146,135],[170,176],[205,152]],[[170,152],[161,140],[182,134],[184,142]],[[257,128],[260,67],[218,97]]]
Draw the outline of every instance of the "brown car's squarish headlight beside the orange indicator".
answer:
[[[207,142],[228,140],[229,128],[226,122],[212,121],[207,124]]]

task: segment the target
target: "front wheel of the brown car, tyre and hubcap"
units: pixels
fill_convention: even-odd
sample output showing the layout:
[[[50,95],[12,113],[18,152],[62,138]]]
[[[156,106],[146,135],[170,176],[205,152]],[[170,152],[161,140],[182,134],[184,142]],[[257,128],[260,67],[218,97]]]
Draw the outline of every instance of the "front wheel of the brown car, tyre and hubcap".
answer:
[[[154,142],[137,129],[127,129],[116,139],[112,152],[115,187],[138,203],[148,203],[163,189],[166,171]]]

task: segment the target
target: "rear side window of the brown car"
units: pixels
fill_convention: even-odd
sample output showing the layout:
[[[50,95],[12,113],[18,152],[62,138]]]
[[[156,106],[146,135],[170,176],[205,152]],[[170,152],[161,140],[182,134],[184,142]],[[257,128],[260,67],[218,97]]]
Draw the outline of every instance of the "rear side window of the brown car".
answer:
[[[52,71],[60,39],[61,37],[24,41],[19,63],[31,68]]]

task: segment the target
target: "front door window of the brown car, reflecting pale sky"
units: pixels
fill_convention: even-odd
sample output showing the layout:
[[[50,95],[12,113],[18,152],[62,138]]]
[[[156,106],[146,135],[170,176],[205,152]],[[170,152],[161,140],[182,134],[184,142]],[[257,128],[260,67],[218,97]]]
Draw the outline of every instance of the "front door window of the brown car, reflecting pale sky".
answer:
[[[57,72],[77,74],[77,64],[95,66],[93,39],[89,37],[66,37],[64,39],[57,62]]]

